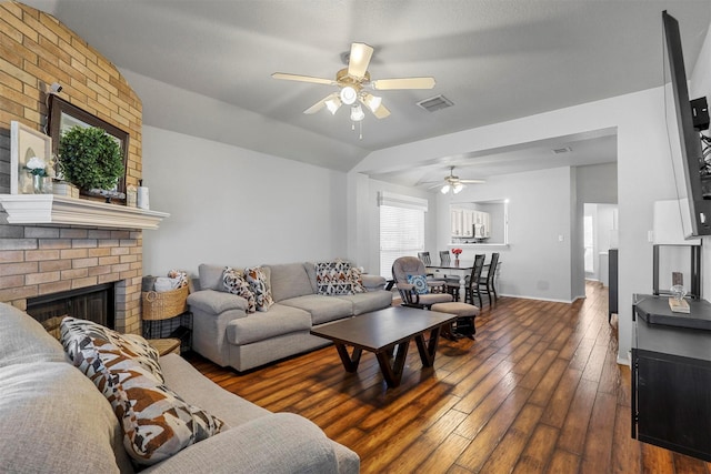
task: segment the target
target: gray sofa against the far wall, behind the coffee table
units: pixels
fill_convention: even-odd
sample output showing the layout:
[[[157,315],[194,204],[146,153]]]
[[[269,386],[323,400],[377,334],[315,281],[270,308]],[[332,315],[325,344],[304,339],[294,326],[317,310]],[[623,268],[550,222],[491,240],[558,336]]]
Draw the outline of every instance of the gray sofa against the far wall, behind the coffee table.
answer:
[[[247,313],[247,300],[223,288],[224,265],[199,266],[200,290],[188,296],[196,352],[221,366],[246,371],[331,343],[311,335],[312,326],[392,304],[382,276],[362,275],[364,293],[331,296],[318,294],[311,262],[264,269],[276,304],[267,312]]]

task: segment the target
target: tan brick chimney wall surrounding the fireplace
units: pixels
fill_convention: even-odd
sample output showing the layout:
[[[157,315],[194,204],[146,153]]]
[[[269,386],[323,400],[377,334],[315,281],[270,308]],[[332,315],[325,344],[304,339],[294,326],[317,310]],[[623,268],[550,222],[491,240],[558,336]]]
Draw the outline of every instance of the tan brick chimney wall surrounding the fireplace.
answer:
[[[0,2],[0,193],[10,192],[10,122],[42,131],[46,85],[130,134],[127,184],[141,178],[141,101],[113,64],[57,19]],[[118,204],[117,204],[118,205]],[[11,225],[0,213],[0,301],[117,282],[117,329],[140,332],[142,232]]]

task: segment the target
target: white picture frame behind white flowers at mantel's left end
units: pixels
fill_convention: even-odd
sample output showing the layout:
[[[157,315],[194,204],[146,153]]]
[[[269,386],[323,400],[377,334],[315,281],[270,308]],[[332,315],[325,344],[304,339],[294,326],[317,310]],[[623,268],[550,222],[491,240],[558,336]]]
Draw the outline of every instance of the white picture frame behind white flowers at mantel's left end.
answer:
[[[33,194],[28,161],[37,157],[49,164],[52,139],[21,122],[10,122],[10,194]]]

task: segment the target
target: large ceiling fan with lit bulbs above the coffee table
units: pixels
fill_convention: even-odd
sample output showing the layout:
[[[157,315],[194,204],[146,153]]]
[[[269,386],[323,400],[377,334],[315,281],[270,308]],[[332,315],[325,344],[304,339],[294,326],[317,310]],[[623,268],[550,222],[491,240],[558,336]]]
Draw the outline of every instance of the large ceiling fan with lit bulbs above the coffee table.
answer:
[[[365,43],[352,43],[348,58],[348,68],[336,73],[336,79],[313,78],[311,75],[289,74],[274,72],[274,79],[287,81],[311,82],[314,84],[337,85],[339,90],[321,99],[303,113],[316,113],[324,107],[332,113],[342,104],[351,107],[351,121],[360,122],[364,118],[361,104],[365,105],[378,119],[390,115],[390,111],[382,104],[382,98],[373,95],[370,90],[395,89],[432,89],[434,78],[400,78],[371,80],[368,72],[373,48]]]

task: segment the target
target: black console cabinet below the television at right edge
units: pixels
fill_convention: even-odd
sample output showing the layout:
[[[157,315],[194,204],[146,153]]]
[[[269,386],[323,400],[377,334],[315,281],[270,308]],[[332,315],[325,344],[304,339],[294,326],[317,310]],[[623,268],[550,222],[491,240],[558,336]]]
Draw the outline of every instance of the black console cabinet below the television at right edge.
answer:
[[[711,462],[711,304],[635,295],[632,437]]]

